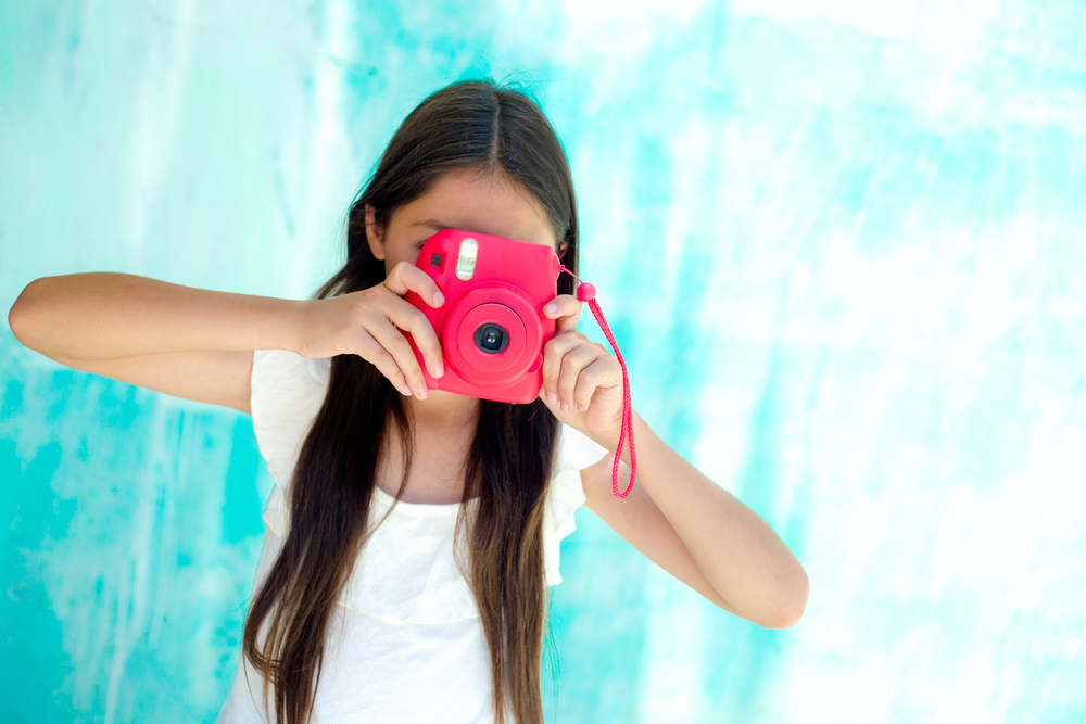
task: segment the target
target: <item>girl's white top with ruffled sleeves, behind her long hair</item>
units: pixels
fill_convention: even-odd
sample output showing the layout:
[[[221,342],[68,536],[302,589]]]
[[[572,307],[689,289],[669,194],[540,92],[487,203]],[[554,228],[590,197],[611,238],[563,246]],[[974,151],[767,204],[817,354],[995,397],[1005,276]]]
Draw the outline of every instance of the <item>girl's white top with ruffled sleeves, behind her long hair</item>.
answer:
[[[287,491],[324,403],[330,369],[330,359],[281,350],[253,353],[253,430],[275,481],[264,512],[254,595],[286,536]],[[561,583],[558,545],[573,532],[573,512],[584,503],[580,470],[606,454],[573,428],[561,425],[543,524],[547,585]],[[392,500],[374,486],[370,530]],[[467,504],[469,523],[477,504]],[[314,724],[493,722],[490,649],[471,589],[453,559],[458,509],[458,503],[401,500],[374,531],[329,622]],[[466,547],[460,560],[468,564]],[[261,674],[240,656],[216,724],[274,721],[274,706],[261,702],[263,685]],[[512,711],[508,716],[512,724]]]

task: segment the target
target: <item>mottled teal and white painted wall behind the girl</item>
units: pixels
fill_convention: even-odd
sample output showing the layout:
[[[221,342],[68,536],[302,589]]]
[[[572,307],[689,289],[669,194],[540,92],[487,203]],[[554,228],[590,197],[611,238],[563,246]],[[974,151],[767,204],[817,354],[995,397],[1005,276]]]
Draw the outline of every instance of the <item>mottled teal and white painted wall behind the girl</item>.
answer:
[[[1084,722],[1084,39],[1077,0],[5,2],[0,303],[304,297],[419,100],[526,82],[634,406],[811,582],[763,630],[581,509],[547,721]],[[0,721],[212,721],[250,419],[7,327],[0,401]]]

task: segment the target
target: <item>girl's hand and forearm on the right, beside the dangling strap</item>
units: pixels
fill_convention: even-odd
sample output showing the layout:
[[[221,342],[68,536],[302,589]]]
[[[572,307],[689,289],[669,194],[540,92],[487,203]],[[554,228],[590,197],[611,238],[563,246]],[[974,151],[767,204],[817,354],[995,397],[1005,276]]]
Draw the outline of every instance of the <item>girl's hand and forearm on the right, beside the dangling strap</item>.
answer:
[[[622,370],[603,345],[576,331],[580,312],[581,302],[569,294],[558,295],[544,307],[544,314],[557,326],[555,336],[543,346],[540,398],[558,420],[614,454],[622,420]],[[738,498],[671,449],[636,410],[632,417],[637,457],[635,485],[640,484],[652,498],[651,504],[642,500],[640,505],[662,512],[729,610],[766,627],[798,622],[807,606],[809,582],[804,567],[780,536]],[[627,466],[631,463],[629,444],[621,459]],[[629,485],[626,472],[618,481],[620,491]],[[609,485],[609,470],[607,478]],[[631,507],[632,518],[653,520],[655,516],[658,521],[653,510],[634,511],[632,498],[631,492],[623,500],[609,501],[608,508],[626,504]],[[668,531],[660,533],[652,534],[657,541],[670,535]]]

